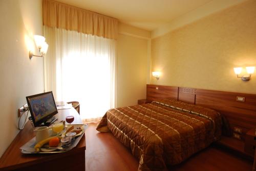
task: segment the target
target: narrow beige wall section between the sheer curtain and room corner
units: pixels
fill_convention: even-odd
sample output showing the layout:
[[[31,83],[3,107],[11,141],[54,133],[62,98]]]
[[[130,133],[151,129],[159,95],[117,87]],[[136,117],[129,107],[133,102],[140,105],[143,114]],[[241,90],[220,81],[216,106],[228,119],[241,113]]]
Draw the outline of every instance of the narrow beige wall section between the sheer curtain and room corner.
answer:
[[[150,32],[119,23],[117,40],[117,107],[146,97]]]

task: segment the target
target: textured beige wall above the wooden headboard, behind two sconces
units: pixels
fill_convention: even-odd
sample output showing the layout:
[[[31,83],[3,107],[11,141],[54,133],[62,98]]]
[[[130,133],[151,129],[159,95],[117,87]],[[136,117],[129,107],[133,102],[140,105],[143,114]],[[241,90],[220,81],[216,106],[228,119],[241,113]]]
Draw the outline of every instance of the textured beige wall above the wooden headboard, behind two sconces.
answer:
[[[204,17],[152,40],[152,84],[256,93],[234,75],[235,66],[256,66],[256,1]]]

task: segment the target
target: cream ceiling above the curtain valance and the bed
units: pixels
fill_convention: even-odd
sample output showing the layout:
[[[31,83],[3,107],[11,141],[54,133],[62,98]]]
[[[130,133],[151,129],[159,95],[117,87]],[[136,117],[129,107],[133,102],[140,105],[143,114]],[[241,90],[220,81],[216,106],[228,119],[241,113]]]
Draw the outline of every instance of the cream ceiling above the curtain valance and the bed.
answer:
[[[129,25],[155,30],[212,0],[56,0],[108,15]]]

